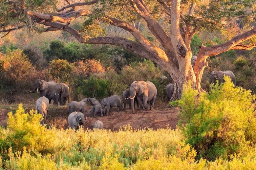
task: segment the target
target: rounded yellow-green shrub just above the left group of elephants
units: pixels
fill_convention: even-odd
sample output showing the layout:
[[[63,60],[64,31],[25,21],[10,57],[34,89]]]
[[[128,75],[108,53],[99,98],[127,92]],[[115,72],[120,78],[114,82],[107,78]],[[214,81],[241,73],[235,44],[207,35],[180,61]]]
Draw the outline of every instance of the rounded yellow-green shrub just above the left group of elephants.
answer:
[[[49,69],[53,77],[68,82],[68,78],[74,67],[67,60],[57,59],[50,62]]]

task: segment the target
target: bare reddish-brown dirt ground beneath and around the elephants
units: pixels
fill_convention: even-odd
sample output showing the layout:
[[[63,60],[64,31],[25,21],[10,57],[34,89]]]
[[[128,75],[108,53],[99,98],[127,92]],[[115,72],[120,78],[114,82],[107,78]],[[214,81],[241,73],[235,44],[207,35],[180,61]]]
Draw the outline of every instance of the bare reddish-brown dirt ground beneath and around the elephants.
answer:
[[[10,111],[15,111],[18,104],[14,105],[0,105],[0,126],[7,126],[7,113]],[[154,110],[138,110],[135,109],[135,114],[132,114],[130,109],[117,111],[117,108],[111,108],[109,116],[96,116],[96,118],[89,117],[92,106],[86,106],[87,117],[84,130],[91,129],[92,124],[96,120],[100,120],[104,124],[105,129],[118,130],[124,125],[130,124],[134,129],[140,128],[153,128],[154,130],[158,128],[167,128],[169,126],[172,129],[176,128],[178,124],[178,114],[179,109],[177,108],[165,108],[155,107]],[[28,112],[34,109],[32,104],[23,104],[25,110]],[[166,106],[166,105],[165,105]],[[66,106],[55,106],[51,105],[48,110],[47,115],[47,125],[56,126],[57,128],[67,129],[67,110]]]

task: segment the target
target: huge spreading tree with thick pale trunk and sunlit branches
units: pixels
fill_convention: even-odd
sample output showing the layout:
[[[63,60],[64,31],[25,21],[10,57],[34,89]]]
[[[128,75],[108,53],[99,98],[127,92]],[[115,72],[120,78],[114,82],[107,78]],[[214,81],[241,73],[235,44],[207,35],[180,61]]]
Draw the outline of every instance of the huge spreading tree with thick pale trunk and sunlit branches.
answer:
[[[168,71],[175,85],[171,100],[181,97],[182,85],[189,80],[195,89],[202,91],[200,83],[209,56],[255,47],[252,39],[256,35],[254,0],[65,0],[66,6],[58,8],[56,4],[61,2],[1,0],[0,32],[8,34],[23,27],[39,32],[63,30],[81,43],[121,46]],[[71,23],[79,17],[83,17],[84,24],[76,30]],[[227,42],[210,47],[201,45],[192,68],[190,44],[193,36],[203,30],[221,31],[238,21],[237,32]],[[146,23],[158,43],[149,41],[139,31],[135,24],[138,22]],[[135,39],[107,37],[106,25],[122,28]]]

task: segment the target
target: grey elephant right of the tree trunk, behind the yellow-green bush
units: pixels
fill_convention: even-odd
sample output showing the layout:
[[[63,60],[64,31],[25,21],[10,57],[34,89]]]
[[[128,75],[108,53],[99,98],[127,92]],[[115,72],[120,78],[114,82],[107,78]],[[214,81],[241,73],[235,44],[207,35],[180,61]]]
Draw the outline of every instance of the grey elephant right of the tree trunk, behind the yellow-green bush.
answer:
[[[215,84],[216,80],[219,80],[219,84],[224,83],[224,75],[225,76],[229,76],[231,81],[234,83],[234,85],[236,85],[236,76],[234,75],[234,73],[232,71],[226,70],[226,71],[212,71],[211,75],[210,75],[210,83],[211,84]]]

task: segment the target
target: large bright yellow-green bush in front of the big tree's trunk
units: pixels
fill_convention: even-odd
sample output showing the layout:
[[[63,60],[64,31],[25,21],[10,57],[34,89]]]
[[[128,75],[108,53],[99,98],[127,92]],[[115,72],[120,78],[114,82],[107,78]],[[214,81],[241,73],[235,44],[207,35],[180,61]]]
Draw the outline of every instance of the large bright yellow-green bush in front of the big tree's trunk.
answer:
[[[256,118],[249,90],[234,87],[229,77],[225,83],[211,87],[209,94],[198,95],[191,86],[183,90],[179,106],[187,143],[201,156],[209,160],[222,157],[232,159],[253,156],[256,142]]]

